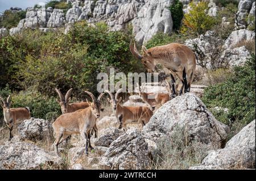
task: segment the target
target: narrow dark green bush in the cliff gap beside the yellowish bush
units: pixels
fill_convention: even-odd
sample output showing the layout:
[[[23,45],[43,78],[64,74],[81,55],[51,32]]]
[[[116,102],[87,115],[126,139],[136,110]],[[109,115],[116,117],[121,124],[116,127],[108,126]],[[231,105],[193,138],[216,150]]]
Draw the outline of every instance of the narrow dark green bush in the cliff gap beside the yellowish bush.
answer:
[[[174,22],[173,30],[180,30],[180,24],[183,19],[183,4],[175,0],[170,6],[172,21]]]

